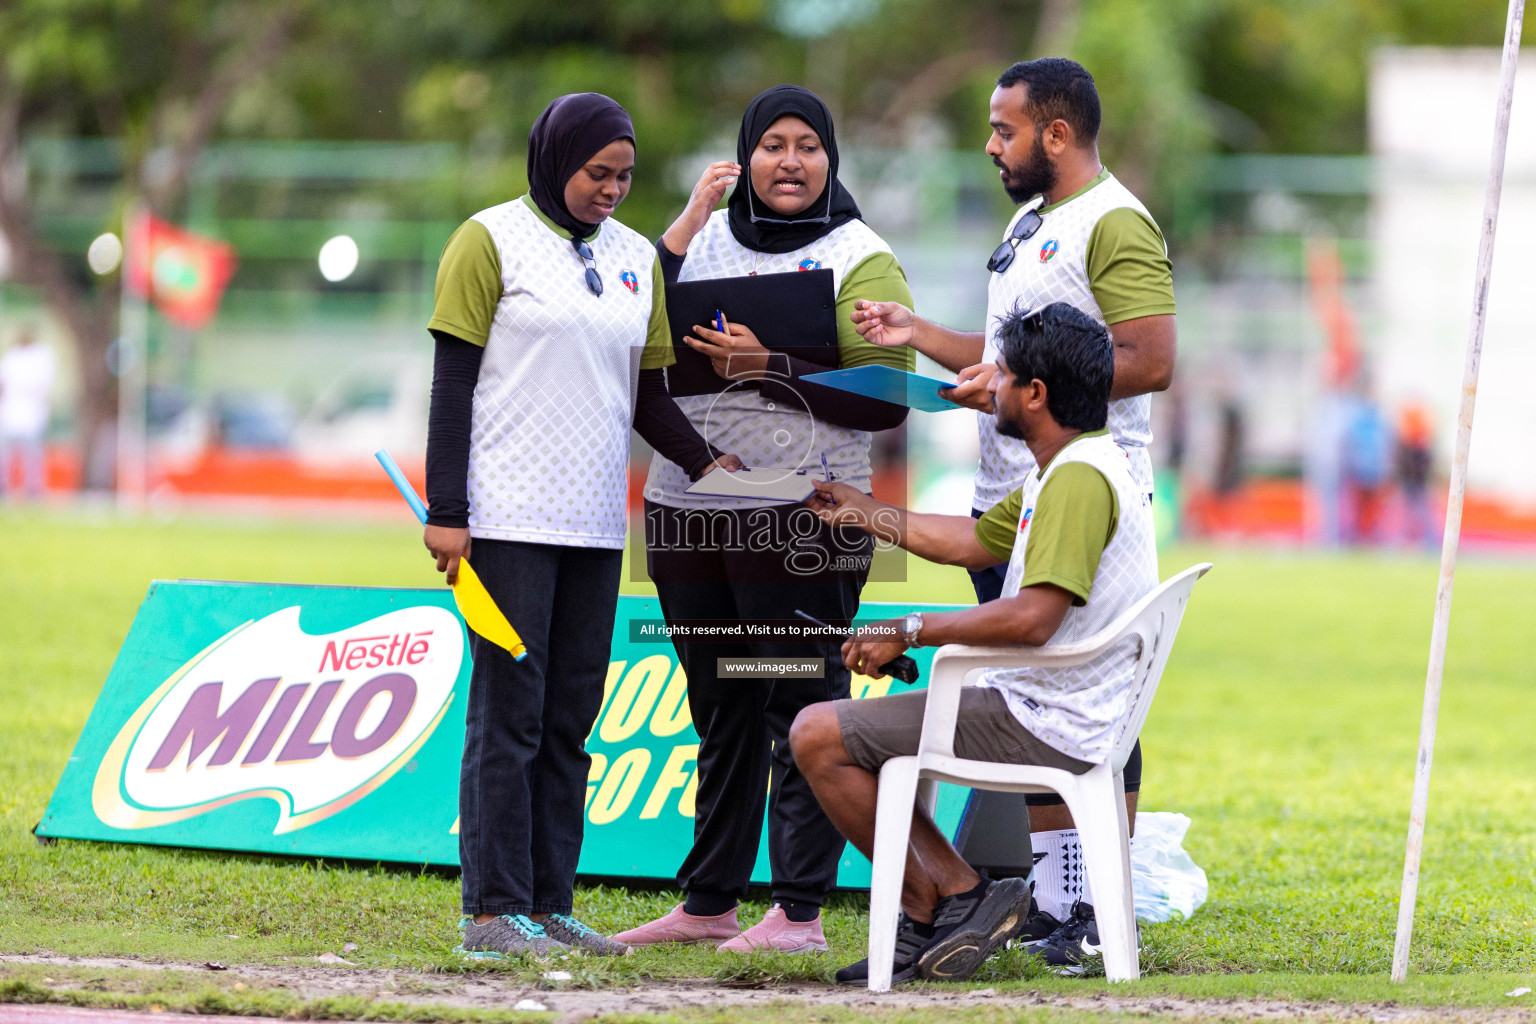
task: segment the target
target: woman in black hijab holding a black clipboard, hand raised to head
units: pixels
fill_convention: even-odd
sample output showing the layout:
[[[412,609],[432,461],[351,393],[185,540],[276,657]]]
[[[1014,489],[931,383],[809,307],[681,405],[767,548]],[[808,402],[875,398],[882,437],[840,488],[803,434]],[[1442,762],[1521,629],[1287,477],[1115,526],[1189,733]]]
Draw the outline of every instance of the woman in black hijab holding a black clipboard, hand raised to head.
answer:
[[[710,164],[687,209],[656,249],[668,281],[829,270],[843,367],[911,370],[912,353],[863,341],[856,299],[909,304],[906,275],[837,177],[837,138],[826,104],[800,86],[776,86],[746,107],[736,160]],[[739,178],[745,178],[737,183]],[[736,183],[725,210],[714,210]],[[730,310],[723,310],[730,319]],[[829,367],[770,353],[753,324],[677,324],[677,333],[720,378],[717,395],[679,396],[707,439],[753,468],[823,476],[869,491],[871,434],[899,425],[905,407],[806,384]],[[682,467],[659,454],[645,484],[647,554],[668,620],[794,620],[803,609],[846,625],[869,573],[866,536],[826,527],[803,505],[688,494]],[[710,539],[705,545],[693,539]],[[788,731],[811,703],[849,695],[839,642],[674,640],[699,731],[694,844],[677,874],[687,900],[617,938],[631,944],[713,941],[725,950],[826,949],[820,906],[837,880],[843,840],[794,766]],[[820,657],[816,679],[742,680],[716,674],[722,657]],[[773,785],[768,791],[770,780]],[[768,811],[774,906],[739,932]]]

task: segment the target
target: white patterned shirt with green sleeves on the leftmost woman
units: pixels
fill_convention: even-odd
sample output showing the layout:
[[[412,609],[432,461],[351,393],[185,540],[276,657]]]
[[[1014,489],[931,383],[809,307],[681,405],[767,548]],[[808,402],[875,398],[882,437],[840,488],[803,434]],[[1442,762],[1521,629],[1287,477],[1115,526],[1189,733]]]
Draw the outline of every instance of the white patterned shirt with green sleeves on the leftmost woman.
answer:
[[[639,370],[673,362],[656,250],[608,220],[570,236],[524,195],[449,239],[429,329],[485,347],[470,427],[470,536],[624,548]]]

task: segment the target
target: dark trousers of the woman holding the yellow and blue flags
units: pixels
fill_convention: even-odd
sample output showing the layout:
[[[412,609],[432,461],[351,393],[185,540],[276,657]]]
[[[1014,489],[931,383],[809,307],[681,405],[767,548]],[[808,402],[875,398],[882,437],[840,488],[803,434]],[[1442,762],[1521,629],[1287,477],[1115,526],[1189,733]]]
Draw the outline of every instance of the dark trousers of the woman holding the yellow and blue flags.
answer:
[[[621,551],[479,540],[475,571],[528,648],[470,633],[459,768],[464,913],[570,913],[587,734],[602,708]]]

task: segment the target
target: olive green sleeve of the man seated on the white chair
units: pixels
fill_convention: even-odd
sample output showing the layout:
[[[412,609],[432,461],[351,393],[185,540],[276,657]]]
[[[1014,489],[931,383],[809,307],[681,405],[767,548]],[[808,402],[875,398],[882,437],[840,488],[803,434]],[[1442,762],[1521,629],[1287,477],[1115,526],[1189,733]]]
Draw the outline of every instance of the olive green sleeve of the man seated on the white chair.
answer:
[[[1104,474],[1086,462],[1068,462],[1035,497],[1020,588],[1055,583],[1086,605],[1098,573],[1098,556],[1115,536],[1120,502]]]

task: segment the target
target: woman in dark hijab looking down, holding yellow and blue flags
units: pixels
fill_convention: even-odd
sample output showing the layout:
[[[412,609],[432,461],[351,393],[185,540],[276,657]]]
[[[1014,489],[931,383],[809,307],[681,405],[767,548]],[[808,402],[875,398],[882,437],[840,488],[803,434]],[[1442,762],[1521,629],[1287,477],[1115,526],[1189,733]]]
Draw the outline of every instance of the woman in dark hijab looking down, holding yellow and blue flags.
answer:
[[[630,427],[691,476],[739,465],[667,395],[660,266],[611,218],[633,172],[624,107],[561,97],[528,135],[528,193],[465,221],[438,267],[424,542],[453,582],[473,539],[476,574],[527,645],[515,662],[470,634],[459,778],[470,956],[628,952],[571,917],[571,895],[584,743],[619,593]]]

